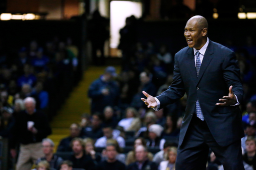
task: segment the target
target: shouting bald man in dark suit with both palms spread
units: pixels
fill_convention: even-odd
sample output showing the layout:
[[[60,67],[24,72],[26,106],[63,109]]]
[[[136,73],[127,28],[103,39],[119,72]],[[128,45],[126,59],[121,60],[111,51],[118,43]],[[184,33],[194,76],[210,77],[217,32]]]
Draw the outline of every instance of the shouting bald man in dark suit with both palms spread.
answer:
[[[244,170],[239,68],[235,53],[210,41],[207,29],[207,20],[202,16],[187,21],[184,36],[188,47],[175,54],[171,85],[155,98],[143,91],[147,99],[141,100],[148,108],[158,110],[186,93],[176,170],[205,170],[209,148],[224,170]]]

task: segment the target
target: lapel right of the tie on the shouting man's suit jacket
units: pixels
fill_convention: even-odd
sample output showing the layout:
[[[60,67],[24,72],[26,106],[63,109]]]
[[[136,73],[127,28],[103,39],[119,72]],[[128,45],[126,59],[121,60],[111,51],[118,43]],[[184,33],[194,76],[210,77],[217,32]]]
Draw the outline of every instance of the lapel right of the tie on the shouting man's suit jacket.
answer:
[[[206,49],[206,51],[204,53],[204,56],[203,56],[203,59],[202,59],[202,63],[201,63],[201,66],[200,66],[200,71],[199,71],[199,75],[197,77],[196,85],[199,83],[200,79],[202,78],[202,75],[204,74],[207,66],[209,65],[209,63],[212,59],[211,54],[213,54],[213,44],[209,40],[209,44],[207,46],[207,49]]]

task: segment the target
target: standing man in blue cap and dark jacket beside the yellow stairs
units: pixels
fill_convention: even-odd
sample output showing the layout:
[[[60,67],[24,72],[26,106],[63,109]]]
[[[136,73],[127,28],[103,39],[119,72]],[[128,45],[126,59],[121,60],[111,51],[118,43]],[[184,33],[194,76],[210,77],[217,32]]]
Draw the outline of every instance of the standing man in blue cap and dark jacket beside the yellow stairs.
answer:
[[[89,87],[88,97],[91,98],[91,113],[103,112],[106,106],[117,105],[119,90],[117,83],[113,80],[116,76],[115,68],[109,66],[104,74],[96,79]]]

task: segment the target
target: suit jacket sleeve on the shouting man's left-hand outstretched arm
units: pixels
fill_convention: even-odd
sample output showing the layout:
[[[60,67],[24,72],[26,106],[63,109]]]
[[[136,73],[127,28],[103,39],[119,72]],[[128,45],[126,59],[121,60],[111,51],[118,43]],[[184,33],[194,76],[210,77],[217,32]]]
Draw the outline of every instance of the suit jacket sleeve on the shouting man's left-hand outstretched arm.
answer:
[[[174,70],[173,70],[173,81],[167,90],[162,92],[156,98],[160,102],[159,109],[165,107],[168,104],[174,103],[176,100],[180,99],[185,94],[184,83],[182,81],[179,65],[178,65],[178,55],[175,54],[174,57]]]

